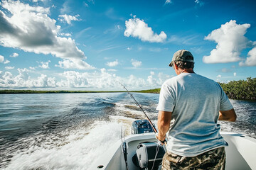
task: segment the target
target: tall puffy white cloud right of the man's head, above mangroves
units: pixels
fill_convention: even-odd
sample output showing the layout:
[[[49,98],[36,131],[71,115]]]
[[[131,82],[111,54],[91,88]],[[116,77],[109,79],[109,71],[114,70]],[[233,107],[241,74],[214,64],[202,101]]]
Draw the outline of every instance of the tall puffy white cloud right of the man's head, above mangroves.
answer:
[[[247,28],[250,28],[250,24],[237,24],[236,21],[231,20],[220,28],[213,30],[205,37],[205,40],[213,40],[217,43],[217,46],[210,52],[209,56],[203,57],[203,62],[226,63],[240,61],[240,52],[252,45],[252,42],[244,36]]]

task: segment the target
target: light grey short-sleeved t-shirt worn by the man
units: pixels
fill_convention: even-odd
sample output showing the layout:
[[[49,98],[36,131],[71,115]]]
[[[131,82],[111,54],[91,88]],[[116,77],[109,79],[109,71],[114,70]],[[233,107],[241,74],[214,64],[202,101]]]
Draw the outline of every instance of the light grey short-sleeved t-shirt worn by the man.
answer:
[[[221,86],[211,79],[182,73],[165,81],[156,110],[172,112],[167,151],[194,157],[227,145],[217,121],[219,111],[232,108]]]

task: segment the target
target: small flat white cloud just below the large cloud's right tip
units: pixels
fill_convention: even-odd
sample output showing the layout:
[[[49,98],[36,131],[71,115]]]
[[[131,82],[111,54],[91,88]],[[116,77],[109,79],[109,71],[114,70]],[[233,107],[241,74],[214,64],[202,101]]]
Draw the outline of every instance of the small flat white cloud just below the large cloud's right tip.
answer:
[[[77,59],[63,60],[62,62],[58,62],[58,65],[55,64],[55,67],[60,67],[63,69],[95,69],[87,62]]]

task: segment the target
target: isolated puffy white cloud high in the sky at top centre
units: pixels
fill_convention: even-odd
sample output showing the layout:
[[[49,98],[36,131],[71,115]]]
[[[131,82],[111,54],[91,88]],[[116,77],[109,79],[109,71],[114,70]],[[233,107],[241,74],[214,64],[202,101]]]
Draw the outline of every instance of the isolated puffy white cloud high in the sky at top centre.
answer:
[[[136,16],[129,19],[129,21],[125,21],[125,26],[124,36],[127,37],[132,36],[148,42],[164,42],[167,38],[164,31],[161,31],[161,33],[157,35],[153,32],[152,28],[150,28],[143,20],[136,18]]]

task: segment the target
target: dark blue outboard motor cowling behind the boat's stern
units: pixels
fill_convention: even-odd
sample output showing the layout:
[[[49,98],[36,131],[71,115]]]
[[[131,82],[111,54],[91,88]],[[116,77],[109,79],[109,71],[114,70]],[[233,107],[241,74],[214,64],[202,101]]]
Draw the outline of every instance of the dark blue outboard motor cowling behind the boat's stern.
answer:
[[[132,123],[132,134],[140,134],[147,132],[153,132],[153,128],[149,123],[149,120],[135,120]]]

